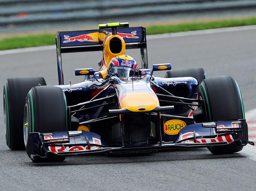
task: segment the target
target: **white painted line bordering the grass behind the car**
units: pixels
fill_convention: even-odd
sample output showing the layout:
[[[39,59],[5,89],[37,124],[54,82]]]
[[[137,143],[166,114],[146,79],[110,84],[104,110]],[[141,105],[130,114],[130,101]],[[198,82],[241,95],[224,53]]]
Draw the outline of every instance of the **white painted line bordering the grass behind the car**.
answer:
[[[256,29],[256,25],[241,26],[241,27],[227,27],[227,28],[220,28],[220,29],[198,30],[198,31],[187,31],[187,32],[178,32],[178,33],[166,33],[166,34],[148,35],[147,40],[179,37],[179,36],[189,36],[189,35],[244,31],[244,30],[253,30],[253,29]],[[30,48],[22,48],[22,49],[12,49],[12,50],[2,50],[2,51],[0,51],[0,55],[23,53],[23,52],[34,52],[34,51],[41,51],[41,50],[54,50],[54,49],[56,49],[55,45],[41,46],[41,47],[30,47]]]

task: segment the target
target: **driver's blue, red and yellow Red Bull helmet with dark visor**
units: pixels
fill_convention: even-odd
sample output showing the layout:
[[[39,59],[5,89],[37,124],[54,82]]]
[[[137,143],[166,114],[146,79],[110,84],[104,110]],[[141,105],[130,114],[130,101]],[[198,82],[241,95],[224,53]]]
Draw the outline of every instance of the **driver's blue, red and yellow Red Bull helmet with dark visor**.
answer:
[[[139,76],[138,64],[128,55],[120,55],[112,58],[108,67],[110,74],[117,77]]]

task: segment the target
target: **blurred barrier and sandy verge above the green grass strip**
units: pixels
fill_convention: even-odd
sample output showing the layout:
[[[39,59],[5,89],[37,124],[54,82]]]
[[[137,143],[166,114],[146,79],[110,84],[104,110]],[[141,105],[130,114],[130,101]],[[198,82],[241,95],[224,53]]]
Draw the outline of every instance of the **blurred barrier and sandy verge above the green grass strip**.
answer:
[[[256,15],[255,0],[0,0],[0,5],[2,37],[106,22],[148,26]]]

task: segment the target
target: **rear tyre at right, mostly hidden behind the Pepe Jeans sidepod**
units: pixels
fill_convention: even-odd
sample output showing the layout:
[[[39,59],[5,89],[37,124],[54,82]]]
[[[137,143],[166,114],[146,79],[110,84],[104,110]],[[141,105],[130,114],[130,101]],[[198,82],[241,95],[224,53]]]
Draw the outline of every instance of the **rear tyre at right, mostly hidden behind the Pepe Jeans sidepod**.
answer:
[[[198,84],[207,78],[203,68],[188,68],[179,70],[169,70],[166,72],[165,77],[194,77]]]

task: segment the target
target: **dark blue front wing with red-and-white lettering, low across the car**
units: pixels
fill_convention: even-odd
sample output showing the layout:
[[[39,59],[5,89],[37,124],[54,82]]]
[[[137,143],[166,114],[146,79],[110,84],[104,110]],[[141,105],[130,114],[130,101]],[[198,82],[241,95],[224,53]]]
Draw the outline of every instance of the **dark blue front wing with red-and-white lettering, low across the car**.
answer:
[[[177,134],[175,142],[159,141],[157,144],[109,147],[102,138],[92,132],[65,131],[52,133],[29,133],[27,154],[47,158],[48,155],[76,156],[103,153],[145,152],[174,148],[198,148],[237,144],[254,145],[248,141],[245,119],[218,121],[188,125]]]

